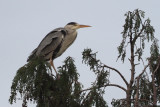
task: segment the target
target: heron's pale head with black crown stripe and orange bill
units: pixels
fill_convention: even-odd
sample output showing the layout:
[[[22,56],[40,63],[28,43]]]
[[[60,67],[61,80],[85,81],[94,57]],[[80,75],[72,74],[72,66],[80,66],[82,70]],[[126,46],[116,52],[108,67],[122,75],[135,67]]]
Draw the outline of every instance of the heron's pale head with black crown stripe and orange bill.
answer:
[[[68,23],[66,26],[66,28],[70,28],[70,29],[73,29],[73,30],[77,30],[79,28],[84,28],[84,27],[91,27],[89,25],[81,25],[81,24],[78,24],[76,22],[70,22]]]

